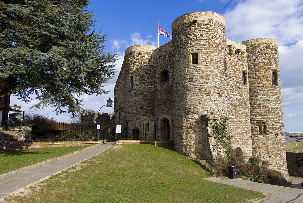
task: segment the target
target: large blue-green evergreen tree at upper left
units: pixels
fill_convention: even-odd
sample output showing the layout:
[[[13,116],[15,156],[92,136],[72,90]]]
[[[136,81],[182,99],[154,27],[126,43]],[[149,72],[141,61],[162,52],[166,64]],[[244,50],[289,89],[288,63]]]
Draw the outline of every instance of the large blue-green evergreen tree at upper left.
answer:
[[[108,93],[116,53],[92,29],[89,0],[0,0],[0,102],[10,94],[57,113],[81,110],[77,96]],[[63,108],[62,108],[63,107]]]

